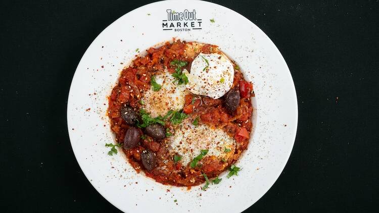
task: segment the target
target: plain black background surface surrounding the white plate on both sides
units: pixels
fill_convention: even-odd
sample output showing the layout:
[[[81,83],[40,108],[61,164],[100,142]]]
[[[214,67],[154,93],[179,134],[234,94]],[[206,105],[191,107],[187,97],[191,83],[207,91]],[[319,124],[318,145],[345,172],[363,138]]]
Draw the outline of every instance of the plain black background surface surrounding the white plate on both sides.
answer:
[[[76,162],[68,91],[92,40],[151,2],[1,3],[2,212],[119,211]],[[298,96],[289,162],[246,212],[378,212],[378,1],[212,2],[244,15],[272,39]]]

